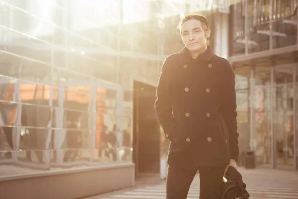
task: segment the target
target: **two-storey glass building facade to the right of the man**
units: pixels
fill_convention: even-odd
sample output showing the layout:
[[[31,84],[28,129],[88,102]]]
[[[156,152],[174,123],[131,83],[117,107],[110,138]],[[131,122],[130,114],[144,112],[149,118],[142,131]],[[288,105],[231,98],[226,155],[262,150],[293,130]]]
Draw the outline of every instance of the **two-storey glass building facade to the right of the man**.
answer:
[[[257,165],[298,170],[297,8],[298,0],[230,6],[228,60],[246,79],[236,88],[240,148],[253,150]]]

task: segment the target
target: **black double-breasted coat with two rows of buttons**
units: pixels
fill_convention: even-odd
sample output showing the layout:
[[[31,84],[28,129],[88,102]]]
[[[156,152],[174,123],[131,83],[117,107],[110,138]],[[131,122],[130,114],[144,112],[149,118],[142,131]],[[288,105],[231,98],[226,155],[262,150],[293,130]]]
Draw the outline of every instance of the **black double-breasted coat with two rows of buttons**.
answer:
[[[155,110],[170,140],[168,164],[186,169],[237,160],[235,74],[211,47],[193,59],[187,48],[163,63]]]

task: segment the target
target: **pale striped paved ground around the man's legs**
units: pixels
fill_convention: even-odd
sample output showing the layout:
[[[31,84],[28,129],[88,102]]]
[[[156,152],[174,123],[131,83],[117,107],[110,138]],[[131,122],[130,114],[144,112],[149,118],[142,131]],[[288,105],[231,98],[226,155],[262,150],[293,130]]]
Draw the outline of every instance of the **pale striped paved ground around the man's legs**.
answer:
[[[250,199],[298,199],[298,172],[271,169],[238,169],[247,185]],[[197,175],[188,199],[199,199],[200,181]],[[86,199],[165,199],[165,181],[138,184],[136,187]]]

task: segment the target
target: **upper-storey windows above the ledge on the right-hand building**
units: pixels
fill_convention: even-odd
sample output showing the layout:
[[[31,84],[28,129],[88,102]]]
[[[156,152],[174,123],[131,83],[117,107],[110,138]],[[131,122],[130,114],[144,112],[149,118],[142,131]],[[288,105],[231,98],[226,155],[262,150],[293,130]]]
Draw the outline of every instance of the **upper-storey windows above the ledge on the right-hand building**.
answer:
[[[231,5],[230,27],[232,27],[230,56],[245,53],[245,34],[248,36],[248,52],[270,49],[270,25],[273,48],[297,44],[297,25],[287,22],[295,18],[295,0],[247,0],[248,16],[245,16],[245,1]],[[287,20],[285,20],[287,19]],[[248,22],[245,30],[245,20]]]

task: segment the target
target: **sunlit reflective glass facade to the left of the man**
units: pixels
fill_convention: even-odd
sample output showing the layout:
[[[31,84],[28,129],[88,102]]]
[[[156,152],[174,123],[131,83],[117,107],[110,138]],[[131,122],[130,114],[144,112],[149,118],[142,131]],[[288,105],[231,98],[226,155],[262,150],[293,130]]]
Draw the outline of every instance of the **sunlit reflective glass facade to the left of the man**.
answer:
[[[0,178],[131,163],[134,81],[156,86],[181,16],[212,7],[0,0]]]

